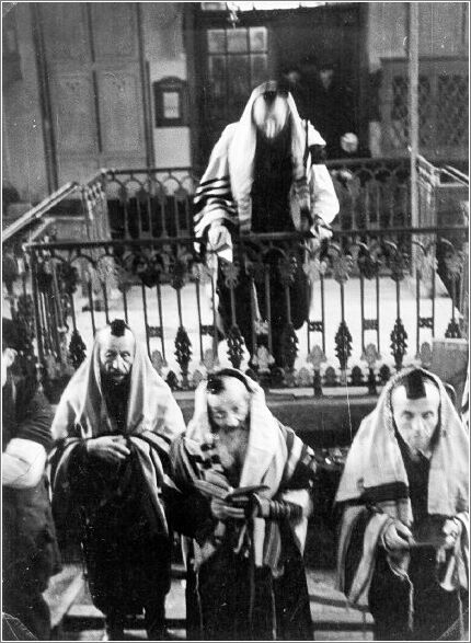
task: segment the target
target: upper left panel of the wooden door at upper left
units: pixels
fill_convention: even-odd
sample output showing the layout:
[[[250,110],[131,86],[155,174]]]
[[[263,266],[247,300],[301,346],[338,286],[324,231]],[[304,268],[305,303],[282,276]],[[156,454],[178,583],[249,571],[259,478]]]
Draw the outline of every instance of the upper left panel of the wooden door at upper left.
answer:
[[[91,60],[84,2],[45,2],[41,4],[41,13],[49,64]]]

